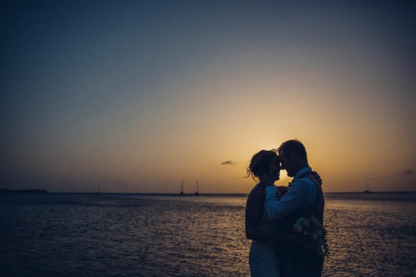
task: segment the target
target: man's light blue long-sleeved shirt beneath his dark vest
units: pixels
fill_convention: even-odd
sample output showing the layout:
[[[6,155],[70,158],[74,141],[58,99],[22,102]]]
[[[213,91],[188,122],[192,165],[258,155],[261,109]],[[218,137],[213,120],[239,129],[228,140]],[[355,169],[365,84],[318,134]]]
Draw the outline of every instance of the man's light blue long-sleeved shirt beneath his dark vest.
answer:
[[[300,208],[315,202],[318,194],[316,186],[308,178],[299,178],[305,172],[312,172],[311,168],[302,168],[293,178],[291,188],[281,197],[276,197],[276,187],[266,187],[266,201],[264,208],[270,220],[282,220],[287,215],[299,211]]]

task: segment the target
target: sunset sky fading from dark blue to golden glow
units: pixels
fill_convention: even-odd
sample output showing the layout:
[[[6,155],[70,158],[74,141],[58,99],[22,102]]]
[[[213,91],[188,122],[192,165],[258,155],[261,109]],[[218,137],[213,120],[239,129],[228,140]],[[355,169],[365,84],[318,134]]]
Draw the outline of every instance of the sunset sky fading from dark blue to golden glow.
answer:
[[[248,193],[252,155],[299,139],[324,192],[416,190],[414,1],[1,1],[0,21],[0,188]]]

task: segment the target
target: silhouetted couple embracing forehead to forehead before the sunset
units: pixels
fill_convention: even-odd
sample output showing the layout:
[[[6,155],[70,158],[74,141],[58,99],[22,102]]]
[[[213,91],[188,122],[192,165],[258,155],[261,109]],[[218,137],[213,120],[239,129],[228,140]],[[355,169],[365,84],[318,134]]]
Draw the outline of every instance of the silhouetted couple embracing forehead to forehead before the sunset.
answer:
[[[280,170],[293,177],[288,186],[274,186]],[[251,276],[321,276],[328,255],[324,195],[304,145],[291,140],[277,150],[254,154],[247,169],[250,176],[258,183],[245,207],[245,234],[252,240]]]

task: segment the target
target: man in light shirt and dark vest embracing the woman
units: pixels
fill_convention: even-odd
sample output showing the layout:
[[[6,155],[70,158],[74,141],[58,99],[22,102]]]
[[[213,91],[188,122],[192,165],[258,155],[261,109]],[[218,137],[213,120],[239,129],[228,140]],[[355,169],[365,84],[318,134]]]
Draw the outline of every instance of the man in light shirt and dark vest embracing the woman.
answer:
[[[320,224],[324,223],[324,195],[322,180],[316,172],[312,172],[304,145],[297,140],[286,141],[277,149],[281,161],[281,169],[286,170],[293,181],[281,199],[276,197],[274,180],[268,176],[261,178],[266,186],[264,206],[270,220],[279,220],[278,224],[285,232],[292,233],[293,224],[300,217],[313,215]],[[322,248],[306,251],[293,244],[293,262],[296,276],[321,276],[324,264]],[[284,267],[284,265],[283,265]]]

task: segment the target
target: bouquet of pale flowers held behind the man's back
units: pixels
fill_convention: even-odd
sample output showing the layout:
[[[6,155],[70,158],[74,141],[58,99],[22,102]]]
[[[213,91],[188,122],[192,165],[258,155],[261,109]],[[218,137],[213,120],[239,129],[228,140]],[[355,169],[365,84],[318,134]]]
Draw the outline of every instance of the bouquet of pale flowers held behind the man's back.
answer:
[[[293,224],[293,234],[297,240],[304,245],[306,249],[316,249],[322,247],[324,255],[329,257],[329,247],[327,244],[327,230],[316,220],[313,215],[309,217],[300,217]]]

